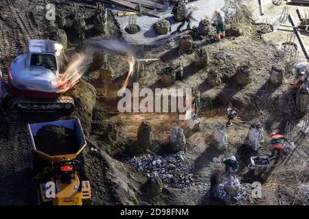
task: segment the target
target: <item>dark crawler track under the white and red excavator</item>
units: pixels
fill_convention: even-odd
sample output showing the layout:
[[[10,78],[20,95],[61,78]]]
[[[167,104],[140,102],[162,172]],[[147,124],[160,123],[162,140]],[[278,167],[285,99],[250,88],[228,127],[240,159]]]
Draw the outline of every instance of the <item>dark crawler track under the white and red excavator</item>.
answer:
[[[15,98],[14,108],[20,112],[73,112],[74,100],[69,96],[54,99]]]

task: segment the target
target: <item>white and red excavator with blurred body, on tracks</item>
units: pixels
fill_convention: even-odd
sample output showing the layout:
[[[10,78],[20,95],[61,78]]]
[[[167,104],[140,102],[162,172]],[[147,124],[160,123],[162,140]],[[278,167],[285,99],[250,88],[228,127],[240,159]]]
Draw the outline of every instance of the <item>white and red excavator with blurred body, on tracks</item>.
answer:
[[[29,40],[27,53],[19,55],[9,70],[8,87],[16,95],[13,105],[23,112],[70,112],[74,101],[59,91],[69,90],[61,80],[58,59],[62,45],[53,40]]]

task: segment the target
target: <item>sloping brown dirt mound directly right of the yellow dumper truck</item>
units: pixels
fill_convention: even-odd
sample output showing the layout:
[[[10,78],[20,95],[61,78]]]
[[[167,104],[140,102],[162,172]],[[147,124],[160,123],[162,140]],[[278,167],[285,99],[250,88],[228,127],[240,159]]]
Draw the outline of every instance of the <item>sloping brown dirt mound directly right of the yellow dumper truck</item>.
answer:
[[[91,181],[91,204],[138,205],[139,190],[146,177],[113,159],[93,142],[89,144],[91,149],[84,153],[84,170]]]

